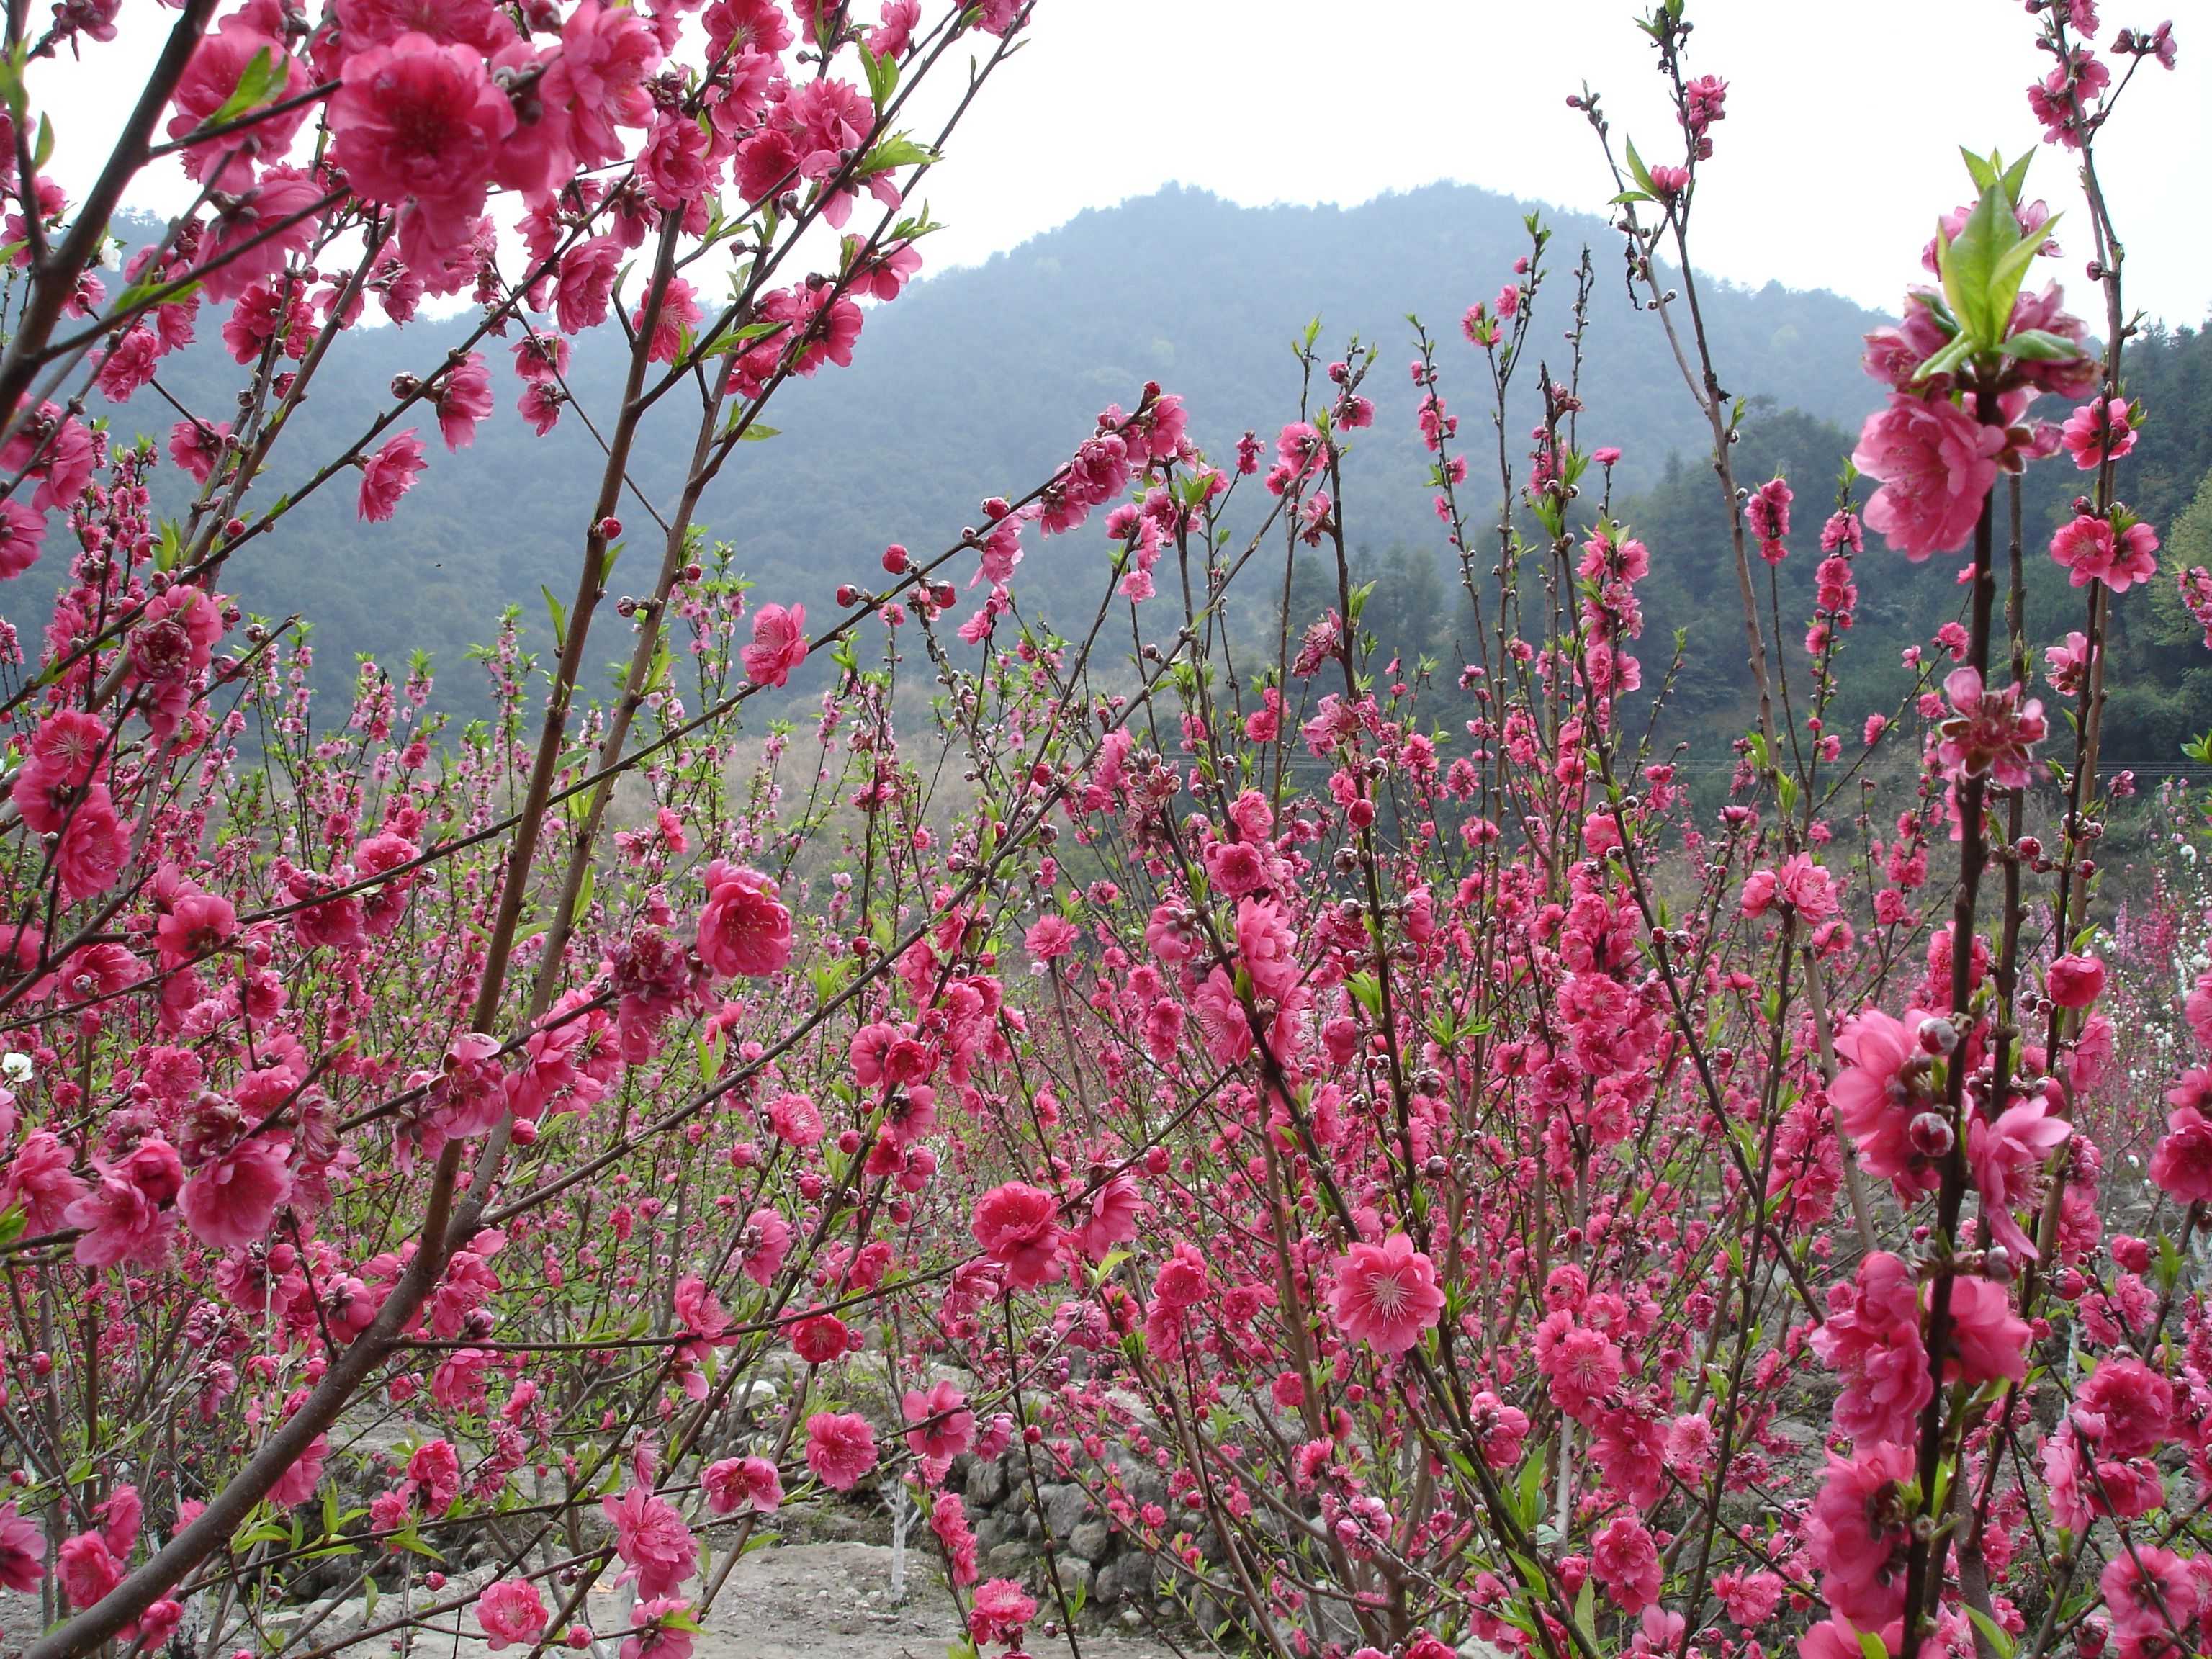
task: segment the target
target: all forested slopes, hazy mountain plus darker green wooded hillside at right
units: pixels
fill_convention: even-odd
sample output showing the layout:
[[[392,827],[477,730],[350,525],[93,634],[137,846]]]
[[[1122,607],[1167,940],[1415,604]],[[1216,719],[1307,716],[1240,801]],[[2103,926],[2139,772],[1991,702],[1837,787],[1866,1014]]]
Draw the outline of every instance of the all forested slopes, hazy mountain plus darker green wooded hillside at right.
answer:
[[[1528,252],[1528,204],[1469,186],[1429,186],[1356,208],[1239,208],[1203,190],[1166,188],[1084,212],[982,265],[929,276],[894,305],[872,307],[854,365],[796,380],[779,396],[772,414],[779,434],[741,447],[706,495],[701,520],[712,540],[732,546],[732,566],[759,597],[801,602],[821,615],[838,582],[876,571],[887,542],[918,553],[945,546],[975,522],[984,495],[1042,482],[1088,436],[1099,409],[1133,405],[1148,378],[1186,398],[1194,436],[1217,456],[1230,453],[1245,429],[1270,434],[1296,416],[1294,347],[1318,319],[1323,361],[1352,341],[1378,347],[1365,387],[1376,400],[1376,425],[1358,434],[1343,500],[1347,538],[1358,549],[1354,580],[1374,584],[1365,622],[1383,661],[1402,659],[1411,672],[1427,657],[1455,670],[1467,602],[1458,560],[1447,557],[1431,511],[1431,458],[1413,425],[1409,319],[1418,316],[1440,341],[1440,389],[1460,416],[1460,445],[1480,480],[1498,438],[1486,365],[1460,341],[1458,316],[1495,292]],[[1679,628],[1686,661],[1668,734],[1736,730],[1747,717],[1750,677],[1703,427],[1659,325],[1626,299],[1606,226],[1551,212],[1544,223],[1553,239],[1537,296],[1540,327],[1509,409],[1509,451],[1517,462],[1526,447],[1540,369],[1551,378],[1573,369],[1566,323],[1577,261],[1588,248],[1582,440],[1624,451],[1615,515],[1652,549],[1639,657],[1648,684],[1657,684]],[[137,230],[144,234],[146,226]],[[1858,369],[1860,336],[1882,319],[1827,292],[1703,283],[1717,358],[1734,378],[1728,389],[1750,411],[1736,478],[1756,484],[1785,473],[1798,495],[1796,555],[1781,566],[1776,595],[1781,635],[1798,670],[1816,531],[1858,422],[1880,394]],[[195,411],[221,418],[219,398],[234,365],[215,314],[201,319],[199,334],[161,385]],[[520,380],[511,378],[504,345],[487,345],[500,411],[471,449],[445,453],[434,442],[431,467],[405,513],[387,524],[358,524],[352,478],[341,478],[296,509],[294,533],[252,544],[226,575],[250,611],[312,624],[325,695],[343,695],[358,655],[398,664],[420,650],[440,675],[438,701],[462,714],[482,712],[467,648],[487,639],[502,608],[515,604],[526,644],[544,644],[549,626],[538,588],[549,584],[566,595],[573,582],[575,529],[597,476],[593,436],[571,418],[549,438],[535,438],[513,411]],[[345,336],[299,416],[305,442],[292,453],[343,447],[383,407],[396,374],[436,367],[418,361],[427,349],[420,330],[365,325]],[[571,380],[586,398],[604,396],[617,367],[619,341],[591,334],[577,345]],[[2190,327],[2148,325],[2130,343],[2128,380],[2150,420],[2121,465],[2124,491],[2166,535],[2166,571],[2212,562],[2212,495],[2203,482],[2212,471],[2212,343]],[[672,493],[684,465],[672,451],[681,411],[670,414],[677,418],[648,425],[633,467],[646,493]],[[166,434],[173,418],[150,392],[111,411],[117,431]],[[166,476],[181,487],[175,473]],[[294,482],[279,480],[276,489]],[[1480,482],[1469,489],[1478,515],[1489,513]],[[2042,557],[2073,489],[2064,460],[2028,471],[2028,624],[2037,633],[2075,626],[2081,611],[2066,573]],[[648,515],[630,509],[635,502],[626,504],[633,524],[648,526]],[[1029,544],[1015,582],[1024,615],[1062,624],[1088,617],[1106,584],[1104,533],[1086,526],[1062,540],[1031,535]],[[1303,568],[1314,557],[1301,553],[1290,573],[1294,626],[1336,588],[1334,573],[1321,580]],[[13,584],[9,606],[18,626],[42,613],[60,575],[49,560]],[[1856,726],[1867,712],[1896,708],[1909,686],[1900,650],[1927,644],[1958,613],[1953,575],[1942,560],[1909,566],[1869,546],[1836,719]],[[613,586],[624,586],[619,568]],[[2106,752],[2117,763],[2170,763],[2185,739],[2212,728],[2212,653],[2203,653],[2174,602],[2170,575],[2157,593],[2150,626],[2115,630],[2121,672],[2112,681]],[[1241,622],[1272,635],[1283,617]],[[608,653],[615,650],[619,644],[611,639]],[[1438,675],[1438,684],[1453,677]],[[794,706],[807,684],[805,675],[794,681]]]

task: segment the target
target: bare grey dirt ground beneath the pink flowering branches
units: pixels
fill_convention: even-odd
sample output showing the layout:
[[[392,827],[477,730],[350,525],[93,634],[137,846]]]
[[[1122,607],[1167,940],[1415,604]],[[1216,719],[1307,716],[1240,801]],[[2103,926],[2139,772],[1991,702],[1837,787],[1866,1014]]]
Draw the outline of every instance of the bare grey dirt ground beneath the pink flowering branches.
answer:
[[[599,1608],[606,1608],[599,1613]],[[389,1608],[389,1601],[385,1604]],[[385,1613],[380,1608],[380,1613]],[[593,1590],[593,1624],[617,1628],[613,1588]],[[1042,1621],[1031,1626],[1029,1650],[1040,1659],[1064,1652],[1048,1639]],[[0,1655],[20,1655],[38,1637],[38,1597],[0,1593]],[[451,1628],[451,1626],[447,1626]],[[469,1635],[427,1637],[414,1646],[414,1659],[495,1659],[480,1639],[476,1621],[465,1617]],[[323,1639],[319,1632],[316,1639]],[[330,1632],[334,1635],[334,1632]],[[907,1599],[891,1604],[891,1551],[883,1544],[776,1544],[754,1551],[730,1573],[714,1610],[692,1648],[695,1659],[942,1659],[958,1635],[951,1597],[920,1551],[907,1553]],[[314,1646],[314,1639],[307,1644]],[[613,1648],[615,1644],[606,1644]],[[387,1641],[363,1648],[385,1659]],[[524,1650],[511,1648],[507,1659]],[[1152,1637],[1095,1635],[1082,1637],[1084,1659],[1172,1659],[1175,1650]],[[551,1648],[549,1659],[568,1659],[566,1648]]]

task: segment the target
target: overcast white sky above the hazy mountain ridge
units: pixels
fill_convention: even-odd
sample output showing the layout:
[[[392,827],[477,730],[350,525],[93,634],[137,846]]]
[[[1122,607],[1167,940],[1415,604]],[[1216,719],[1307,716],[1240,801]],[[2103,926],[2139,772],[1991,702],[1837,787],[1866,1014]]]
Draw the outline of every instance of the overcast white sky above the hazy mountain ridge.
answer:
[[[867,11],[867,0],[860,0]],[[933,9],[933,7],[931,7]],[[1610,184],[1566,95],[1584,80],[1652,155],[1661,82],[1632,0],[1040,0],[1031,42],[978,102],[929,179],[949,228],[929,268],[969,263],[1166,181],[1232,201],[1356,204],[1458,179],[1599,210]],[[1736,281],[1836,288],[1893,310],[1920,281],[1933,219],[1966,192],[1958,146],[2035,144],[2024,86],[2046,60],[2020,0],[1692,0],[1692,62],[1730,82],[1699,192],[1694,257]],[[2205,321],[2212,212],[2212,0],[2104,0],[2121,24],[2174,20],[2181,64],[2137,75],[2099,146],[2128,248],[2128,292],[2152,316]],[[117,117],[168,13],[124,0],[126,40],[46,71],[66,157]],[[51,88],[51,91],[49,91]],[[75,131],[71,131],[75,128]],[[1641,139],[1650,139],[1644,144]],[[2073,168],[2044,150],[2031,184],[2068,217],[2064,279],[2088,241]],[[175,206],[166,192],[146,206]],[[1484,274],[1482,281],[1491,281]],[[1480,283],[1478,283],[1480,285]]]

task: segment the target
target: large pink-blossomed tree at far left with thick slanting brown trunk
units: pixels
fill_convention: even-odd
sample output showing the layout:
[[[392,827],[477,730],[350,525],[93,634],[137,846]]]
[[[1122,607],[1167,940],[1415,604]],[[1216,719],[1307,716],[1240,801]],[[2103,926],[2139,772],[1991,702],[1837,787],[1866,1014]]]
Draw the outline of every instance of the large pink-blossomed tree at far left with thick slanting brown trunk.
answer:
[[[699,1473],[701,1436],[730,1420],[745,1369],[717,1367],[717,1352],[750,1343],[759,1358],[825,1250],[867,1254],[838,1208],[858,1168],[794,1232],[772,1192],[785,1175],[757,1155],[710,1210],[745,1192],[737,1232],[699,1259],[717,1283],[741,1272],[757,1287],[750,1323],[723,1314],[699,1272],[659,1285],[648,1265],[657,1290],[641,1292],[628,1263],[602,1265],[593,1248],[606,1228],[628,1241],[639,1214],[679,1237],[703,1225],[684,1201],[659,1221],[659,1199],[633,1208],[613,1192],[659,1186],[664,1159],[728,1150],[701,1150],[701,1117],[765,1048],[730,1035],[743,1002],[710,993],[792,962],[779,885],[737,863],[765,845],[770,794],[726,796],[723,732],[745,697],[805,659],[805,613],[763,608],[739,653],[739,588],[701,564],[692,513],[768,398],[849,363],[860,301],[896,299],[920,268],[931,226],[902,201],[945,133],[909,135],[916,88],[982,42],[949,131],[1026,9],[993,0],[925,18],[891,0],[867,27],[845,4],[792,15],[772,0],[215,11],[181,9],[75,204],[40,173],[51,124],[35,108],[38,64],[115,40],[115,7],[64,9],[44,35],[15,18],[9,33],[0,153],[20,212],[0,356],[0,575],[44,555],[69,577],[44,655],[4,703],[15,737],[0,1018],[29,1051],[4,1110],[9,1354],[29,1411],[11,1431],[18,1484],[31,1486],[0,1522],[4,1575],[42,1586],[53,1613],[75,1608],[42,1652],[117,1632],[161,1644],[188,1608],[210,1641],[226,1621],[259,1624],[252,1606],[288,1566],[356,1553],[341,1535],[361,1531],[358,1515],[327,1504],[325,1462],[378,1416],[363,1416],[367,1398],[407,1400],[434,1356],[434,1416],[469,1429],[422,1436],[405,1475],[389,1471],[372,1535],[411,1542],[456,1502],[511,1504],[535,1447],[538,1520],[529,1542],[509,1540],[511,1575],[484,1593],[482,1617],[487,1632],[542,1646],[566,1624],[546,1621],[538,1582],[577,1586],[566,1619],[593,1577],[580,1575],[588,1551],[555,1562],[560,1517],[573,1544],[573,1515],[628,1455],[628,1493],[606,1495],[611,1548],[635,1571],[639,1630],[681,1630],[690,1604],[670,1593],[697,1562],[677,1571],[692,1535],[659,1489],[681,1469],[684,1491],[706,1491],[706,1513],[734,1528],[721,1571],[779,1500],[772,1460]],[[108,296],[93,274],[108,219],[157,164],[181,166],[197,199],[131,254]],[[799,261],[818,252],[827,274],[801,281]],[[723,283],[728,299],[712,299]],[[363,411],[341,453],[281,449],[372,294],[394,323],[449,296],[469,310],[422,374],[394,383],[389,407]],[[228,420],[161,385],[164,358],[208,305],[226,307],[223,343],[246,376]],[[577,526],[577,591],[557,613],[535,737],[524,701],[538,675],[513,637],[491,657],[502,719],[480,739],[438,745],[427,677],[394,684],[376,668],[347,726],[314,732],[305,650],[288,655],[263,628],[239,635],[239,608],[219,593],[226,562],[356,473],[363,520],[400,511],[429,465],[422,425],[434,418],[460,449],[491,411],[480,347],[493,336],[509,345],[522,414],[549,431],[573,403],[571,338],[608,325],[624,332],[628,374],[593,420],[604,478]],[[86,420],[86,398],[144,405],[148,389],[184,416],[166,445]],[[586,639],[635,495],[628,456],[670,396],[699,403],[690,469],[679,500],[635,502],[659,571],[650,597],[622,606],[635,635],[622,695],[580,719]],[[177,520],[155,513],[164,449],[195,487]],[[688,717],[675,670],[686,644],[706,701]],[[9,650],[22,664],[13,628]],[[641,717],[657,730],[639,730]],[[241,750],[261,765],[243,770]],[[635,880],[595,896],[628,772],[650,776],[657,827],[619,838]],[[692,845],[679,805],[703,814],[692,880],[706,902],[686,931],[664,898],[670,860]],[[825,989],[814,1013],[776,1026],[776,1053],[854,995]],[[714,1009],[697,1044],[670,1051],[672,1024]],[[588,1135],[562,1133],[608,1099],[624,1104]],[[816,1183],[805,1201],[821,1197]],[[573,1287],[568,1228],[588,1263]],[[865,1243],[867,1221],[858,1232]],[[491,1261],[518,1241],[542,1254],[522,1274],[535,1294],[515,1303],[535,1312],[529,1332],[502,1332],[491,1310],[513,1274],[502,1281]],[[883,1267],[849,1272],[874,1285]],[[606,1334],[606,1294],[646,1307],[644,1325],[624,1316]],[[55,1321],[80,1318],[86,1345],[55,1360]],[[577,1354],[584,1391],[522,1376],[540,1352]],[[630,1352],[653,1363],[608,1369]],[[513,1383],[504,1407],[487,1394],[498,1380]],[[686,1422],[655,1416],[646,1396],[664,1385],[688,1402]],[[626,1391],[637,1398],[617,1411]],[[557,1425],[575,1418],[584,1433],[586,1402],[593,1431],[555,1455]],[[672,1438],[657,1447],[664,1427]],[[785,1425],[779,1455],[790,1442]],[[845,1447],[818,1473],[849,1484],[838,1473],[852,1438],[814,1444]],[[553,1462],[562,1495],[546,1500]],[[276,1548],[285,1531],[270,1517],[319,1491],[321,1544]]]

